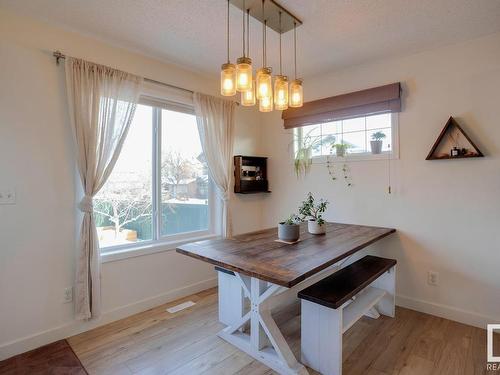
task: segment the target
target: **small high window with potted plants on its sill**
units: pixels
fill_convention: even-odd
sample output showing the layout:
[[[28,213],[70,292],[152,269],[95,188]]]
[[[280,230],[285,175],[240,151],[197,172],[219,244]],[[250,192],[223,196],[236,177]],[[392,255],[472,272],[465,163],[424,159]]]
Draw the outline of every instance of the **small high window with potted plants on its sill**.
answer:
[[[335,145],[345,145],[349,159],[386,158],[392,151],[398,153],[397,113],[356,117],[294,129],[295,149],[311,146],[311,156],[335,156]],[[375,133],[383,133],[382,152],[372,154],[371,140]]]

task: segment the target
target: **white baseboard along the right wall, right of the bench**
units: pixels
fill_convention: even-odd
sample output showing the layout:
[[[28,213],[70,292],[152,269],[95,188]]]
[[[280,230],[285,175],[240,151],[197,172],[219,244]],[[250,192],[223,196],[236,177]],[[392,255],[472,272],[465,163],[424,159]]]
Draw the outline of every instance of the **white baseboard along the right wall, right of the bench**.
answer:
[[[403,295],[396,296],[396,305],[482,329],[486,329],[486,325],[488,323],[500,323],[499,317],[494,318],[473,311],[463,310]]]

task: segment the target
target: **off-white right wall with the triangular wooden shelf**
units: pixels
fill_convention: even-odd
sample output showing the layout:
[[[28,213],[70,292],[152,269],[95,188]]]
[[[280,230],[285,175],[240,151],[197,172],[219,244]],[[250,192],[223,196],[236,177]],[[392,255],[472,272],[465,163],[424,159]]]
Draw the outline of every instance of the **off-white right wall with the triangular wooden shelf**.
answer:
[[[307,100],[401,81],[400,159],[351,163],[354,186],[332,182],[324,165],[297,180],[291,133],[279,114],[264,117],[264,154],[273,194],[264,226],[296,209],[306,192],[331,202],[328,219],[397,228],[372,246],[398,260],[399,303],[484,327],[500,321],[500,34],[305,81]],[[425,161],[450,115],[486,154]],[[440,285],[427,284],[427,271]]]

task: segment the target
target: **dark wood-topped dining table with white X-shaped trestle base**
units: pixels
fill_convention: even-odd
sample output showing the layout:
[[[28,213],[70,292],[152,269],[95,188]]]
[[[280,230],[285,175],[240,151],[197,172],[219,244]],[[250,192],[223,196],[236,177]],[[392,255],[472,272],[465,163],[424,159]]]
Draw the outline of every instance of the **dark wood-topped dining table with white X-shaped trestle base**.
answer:
[[[219,272],[219,337],[280,374],[307,374],[272,317],[297,292],[347,265],[354,254],[394,233],[392,228],[327,223],[313,235],[301,225],[299,242],[278,241],[277,229],[192,242],[177,252],[211,263]],[[245,303],[245,300],[249,303]],[[250,325],[250,332],[243,329]]]

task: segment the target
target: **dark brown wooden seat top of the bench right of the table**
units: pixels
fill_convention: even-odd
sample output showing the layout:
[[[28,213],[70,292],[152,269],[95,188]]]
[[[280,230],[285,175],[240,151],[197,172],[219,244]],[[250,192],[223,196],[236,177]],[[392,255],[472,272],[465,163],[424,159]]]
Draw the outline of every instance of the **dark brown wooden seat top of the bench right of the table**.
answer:
[[[396,265],[396,260],[367,255],[333,275],[301,290],[299,298],[338,309],[384,272]]]

